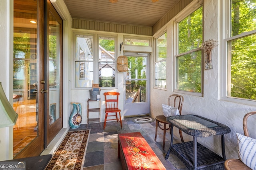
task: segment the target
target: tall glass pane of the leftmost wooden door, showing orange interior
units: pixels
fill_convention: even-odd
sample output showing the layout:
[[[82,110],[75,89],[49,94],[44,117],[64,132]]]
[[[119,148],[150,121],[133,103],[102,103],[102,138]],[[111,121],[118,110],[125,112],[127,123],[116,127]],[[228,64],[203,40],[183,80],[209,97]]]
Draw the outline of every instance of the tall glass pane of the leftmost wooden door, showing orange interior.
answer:
[[[34,0],[26,6],[14,0],[13,108],[18,119],[13,127],[13,157],[38,137],[37,6]]]

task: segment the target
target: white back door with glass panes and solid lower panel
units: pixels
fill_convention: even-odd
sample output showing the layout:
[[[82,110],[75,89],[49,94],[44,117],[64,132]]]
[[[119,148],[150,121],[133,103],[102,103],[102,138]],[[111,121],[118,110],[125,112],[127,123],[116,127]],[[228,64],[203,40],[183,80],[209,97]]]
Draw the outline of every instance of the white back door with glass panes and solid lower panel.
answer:
[[[136,53],[135,53],[136,54]],[[148,95],[148,57],[128,55],[125,72],[124,116],[147,114],[150,111]]]

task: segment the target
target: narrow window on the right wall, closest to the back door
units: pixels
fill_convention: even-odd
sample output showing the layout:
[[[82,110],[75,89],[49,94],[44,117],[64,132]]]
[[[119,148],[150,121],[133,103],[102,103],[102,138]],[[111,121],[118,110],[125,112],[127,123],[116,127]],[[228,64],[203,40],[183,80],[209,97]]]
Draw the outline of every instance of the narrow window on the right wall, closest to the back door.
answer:
[[[166,88],[166,44],[167,33],[156,39],[155,84],[156,88]]]

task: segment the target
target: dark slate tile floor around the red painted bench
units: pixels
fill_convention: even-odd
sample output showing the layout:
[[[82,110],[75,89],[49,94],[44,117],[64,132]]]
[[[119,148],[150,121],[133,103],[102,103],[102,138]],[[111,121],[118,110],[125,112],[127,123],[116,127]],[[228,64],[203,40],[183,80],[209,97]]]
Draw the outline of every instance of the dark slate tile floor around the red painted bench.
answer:
[[[170,146],[170,133],[166,133],[165,150],[163,150],[163,131],[160,128],[158,128],[157,139],[154,141],[156,122],[137,124],[132,119],[132,117],[124,118],[122,129],[120,123],[116,121],[107,122],[105,130],[103,130],[103,123],[83,124],[76,129],[90,129],[83,170],[122,170],[118,159],[118,134],[130,132],[142,134],[167,170],[187,170],[184,164],[172,154],[167,160],[164,159]],[[178,137],[174,137],[174,143],[180,142]]]

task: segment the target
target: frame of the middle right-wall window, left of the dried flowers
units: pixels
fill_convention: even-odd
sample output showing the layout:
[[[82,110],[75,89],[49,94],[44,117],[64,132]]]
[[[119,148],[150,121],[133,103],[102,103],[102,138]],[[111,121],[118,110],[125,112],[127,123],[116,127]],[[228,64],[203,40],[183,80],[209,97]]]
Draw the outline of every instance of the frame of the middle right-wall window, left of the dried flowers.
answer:
[[[199,8],[202,7],[202,11],[203,11],[203,14],[202,14],[202,41],[204,41],[204,7],[203,7],[203,4],[199,4],[198,5],[198,2],[194,2],[191,4],[191,6],[193,8],[188,8],[186,10],[186,12],[182,12],[182,14],[178,14],[175,18],[175,20],[173,21],[173,41],[174,41],[174,44],[173,44],[173,60],[174,60],[174,81],[173,81],[173,91],[176,92],[176,93],[182,93],[182,94],[189,94],[189,95],[192,95],[192,96],[199,96],[199,97],[203,97],[203,94],[204,94],[204,62],[203,62],[203,59],[204,59],[204,53],[202,51],[202,49],[200,49],[200,47],[196,48],[196,49],[192,49],[190,51],[186,51],[184,53],[178,53],[178,23],[182,20],[184,20],[186,17],[188,17],[190,14],[192,14],[193,12],[195,12],[196,10],[198,10]],[[191,7],[190,6],[190,7]],[[177,57],[180,57],[180,56],[184,56],[184,55],[187,55],[187,54],[190,54],[190,53],[194,53],[194,52],[197,52],[197,51],[202,51],[202,55],[201,55],[201,92],[190,92],[190,91],[185,91],[185,90],[179,90],[177,89],[177,82],[178,82],[178,58]]]

